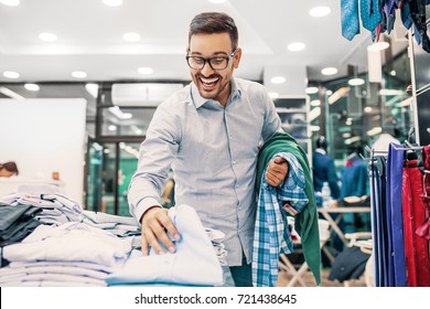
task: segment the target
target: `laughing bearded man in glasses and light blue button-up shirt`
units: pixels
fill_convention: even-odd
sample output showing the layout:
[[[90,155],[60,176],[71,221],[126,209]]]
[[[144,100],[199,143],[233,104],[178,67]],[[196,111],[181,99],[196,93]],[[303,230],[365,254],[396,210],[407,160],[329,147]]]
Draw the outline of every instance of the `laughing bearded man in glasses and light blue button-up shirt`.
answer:
[[[175,203],[193,206],[204,226],[225,233],[235,285],[251,286],[258,147],[281,131],[281,122],[261,84],[233,77],[240,56],[238,31],[229,15],[205,12],[192,20],[185,56],[192,83],[158,107],[140,147],[128,199],[131,214],[142,225],[143,254],[149,247],[174,253],[168,232],[178,241],[181,231],[160,198],[172,169]],[[278,185],[287,173],[287,162],[277,158],[266,180]]]

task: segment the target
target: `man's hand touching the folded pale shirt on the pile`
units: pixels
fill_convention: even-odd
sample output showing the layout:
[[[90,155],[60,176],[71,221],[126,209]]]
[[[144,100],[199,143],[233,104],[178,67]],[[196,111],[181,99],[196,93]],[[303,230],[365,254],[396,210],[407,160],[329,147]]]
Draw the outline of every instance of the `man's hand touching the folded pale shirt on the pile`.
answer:
[[[168,232],[175,241],[180,239],[180,235],[173,222],[170,220],[166,209],[158,206],[149,209],[143,214],[141,224],[143,255],[148,255],[150,246],[157,252],[157,254],[164,254],[160,243],[163,244],[170,253],[174,253],[176,251],[168,235]]]

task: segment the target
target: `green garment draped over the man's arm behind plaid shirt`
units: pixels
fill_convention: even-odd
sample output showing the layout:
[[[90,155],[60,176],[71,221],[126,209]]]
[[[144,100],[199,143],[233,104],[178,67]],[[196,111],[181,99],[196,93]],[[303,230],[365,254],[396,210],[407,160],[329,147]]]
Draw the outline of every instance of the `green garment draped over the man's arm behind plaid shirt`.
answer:
[[[277,132],[261,147],[257,162],[256,190],[259,192],[261,175],[270,159],[279,152],[289,152],[293,154],[301,164],[304,178],[307,180],[305,193],[309,204],[294,216],[295,231],[301,237],[301,244],[304,258],[311,269],[316,285],[321,284],[321,248],[320,232],[318,226],[318,211],[315,204],[314,190],[312,184],[312,174],[309,161],[304,150],[297,143],[295,139],[286,132]]]

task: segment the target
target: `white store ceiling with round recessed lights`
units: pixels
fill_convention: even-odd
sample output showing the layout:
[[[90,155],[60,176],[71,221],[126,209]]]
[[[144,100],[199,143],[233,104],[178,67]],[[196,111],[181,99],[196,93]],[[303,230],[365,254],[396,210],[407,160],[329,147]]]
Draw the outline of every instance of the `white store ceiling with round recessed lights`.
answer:
[[[330,7],[331,14],[312,18],[316,6]],[[76,81],[73,71],[86,72],[84,81],[186,81],[187,29],[203,11],[235,19],[244,50],[237,76],[262,79],[265,66],[280,65],[304,66],[309,79],[326,79],[320,73],[326,66],[340,71],[330,78],[344,75],[347,64],[366,67],[369,33],[362,30],[352,42],[342,38],[337,0],[123,0],[117,8],[101,0],[21,0],[18,7],[0,3],[0,82]],[[58,40],[42,42],[41,32]],[[141,40],[127,43],[126,32]],[[305,50],[288,51],[292,42],[303,42]],[[153,74],[139,74],[142,66]],[[6,78],[4,71],[20,77]]]

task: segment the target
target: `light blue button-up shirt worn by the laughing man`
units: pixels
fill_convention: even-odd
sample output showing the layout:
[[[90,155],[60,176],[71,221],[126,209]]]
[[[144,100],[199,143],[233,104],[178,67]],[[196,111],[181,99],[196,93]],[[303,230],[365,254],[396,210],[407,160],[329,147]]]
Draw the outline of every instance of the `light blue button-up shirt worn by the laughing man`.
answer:
[[[225,233],[229,266],[241,265],[241,251],[250,263],[258,147],[281,130],[261,84],[234,78],[223,107],[191,83],[157,108],[130,182],[130,213],[140,221],[161,205],[172,168],[175,203],[193,206],[204,226]]]

